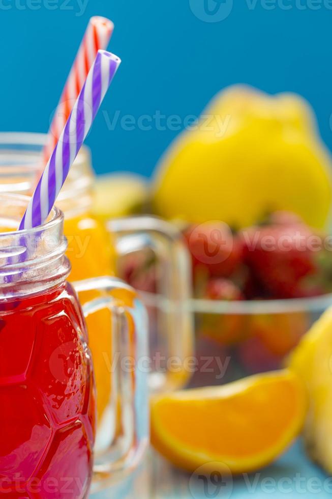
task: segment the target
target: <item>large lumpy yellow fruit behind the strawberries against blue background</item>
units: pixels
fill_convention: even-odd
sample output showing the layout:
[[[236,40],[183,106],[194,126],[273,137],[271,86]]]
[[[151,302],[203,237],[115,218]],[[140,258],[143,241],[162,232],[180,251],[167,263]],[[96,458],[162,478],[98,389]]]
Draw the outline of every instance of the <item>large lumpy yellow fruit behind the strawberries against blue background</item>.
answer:
[[[180,134],[166,152],[154,206],[166,218],[220,219],[235,228],[289,210],[323,228],[331,165],[303,99],[234,87],[212,101],[197,130]]]

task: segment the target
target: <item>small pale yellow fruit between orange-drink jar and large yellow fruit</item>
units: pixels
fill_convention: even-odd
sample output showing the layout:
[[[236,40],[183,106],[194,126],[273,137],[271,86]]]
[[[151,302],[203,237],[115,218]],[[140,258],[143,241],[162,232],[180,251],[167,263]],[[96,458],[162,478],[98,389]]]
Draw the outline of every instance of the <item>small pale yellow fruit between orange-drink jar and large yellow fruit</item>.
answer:
[[[94,214],[107,220],[140,210],[148,198],[148,186],[138,175],[100,175],[94,194]]]

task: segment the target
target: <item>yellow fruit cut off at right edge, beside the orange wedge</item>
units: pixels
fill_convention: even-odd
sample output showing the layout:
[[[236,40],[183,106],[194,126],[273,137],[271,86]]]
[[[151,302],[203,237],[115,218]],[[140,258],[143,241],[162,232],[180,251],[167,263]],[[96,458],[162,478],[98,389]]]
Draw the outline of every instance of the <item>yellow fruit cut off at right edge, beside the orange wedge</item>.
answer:
[[[308,391],[305,439],[309,454],[332,473],[332,308],[312,326],[292,353],[289,367]]]

